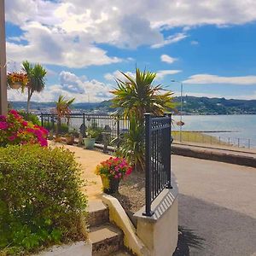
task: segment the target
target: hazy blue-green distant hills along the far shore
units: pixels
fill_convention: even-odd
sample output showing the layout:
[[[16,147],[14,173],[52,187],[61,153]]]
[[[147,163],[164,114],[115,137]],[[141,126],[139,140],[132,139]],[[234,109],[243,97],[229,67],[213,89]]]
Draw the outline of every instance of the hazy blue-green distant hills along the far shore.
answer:
[[[177,110],[180,109],[180,97],[175,97]],[[11,102],[13,108],[26,108],[26,102]],[[99,110],[101,112],[113,112],[111,101],[74,103],[73,108],[87,111]],[[31,102],[32,109],[55,108],[54,102]],[[225,98],[208,98],[183,96],[183,113],[187,114],[256,114],[256,100],[227,100]]]

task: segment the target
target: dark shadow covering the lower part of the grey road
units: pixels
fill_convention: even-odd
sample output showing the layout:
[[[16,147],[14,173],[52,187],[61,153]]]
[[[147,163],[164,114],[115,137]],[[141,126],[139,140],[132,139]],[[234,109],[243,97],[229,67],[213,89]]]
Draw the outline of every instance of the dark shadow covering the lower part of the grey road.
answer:
[[[178,245],[183,254],[173,255],[249,256],[256,252],[255,218],[189,195],[180,194],[178,204]]]

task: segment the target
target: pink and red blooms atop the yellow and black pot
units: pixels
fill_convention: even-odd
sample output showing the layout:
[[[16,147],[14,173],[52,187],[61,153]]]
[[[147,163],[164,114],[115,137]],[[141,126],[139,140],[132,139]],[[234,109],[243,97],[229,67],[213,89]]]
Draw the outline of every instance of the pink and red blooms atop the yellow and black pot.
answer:
[[[127,163],[125,159],[116,157],[110,157],[108,160],[101,162],[96,166],[96,174],[108,178],[122,179],[125,176],[130,175],[132,167]]]

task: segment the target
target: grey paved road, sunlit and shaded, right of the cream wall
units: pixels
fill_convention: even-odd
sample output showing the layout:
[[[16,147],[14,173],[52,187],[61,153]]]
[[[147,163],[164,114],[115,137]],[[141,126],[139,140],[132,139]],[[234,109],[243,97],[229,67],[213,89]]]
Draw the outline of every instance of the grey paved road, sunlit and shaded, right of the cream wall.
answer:
[[[172,155],[189,255],[256,255],[256,168]]]

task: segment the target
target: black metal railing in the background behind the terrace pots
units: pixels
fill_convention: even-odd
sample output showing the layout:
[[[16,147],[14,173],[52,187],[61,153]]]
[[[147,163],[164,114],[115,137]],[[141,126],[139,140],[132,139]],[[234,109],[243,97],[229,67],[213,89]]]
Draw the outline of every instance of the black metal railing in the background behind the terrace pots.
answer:
[[[55,131],[57,125],[56,114],[41,113],[40,117],[41,125],[44,128]],[[111,140],[129,131],[128,119],[113,114],[71,113],[69,119],[61,119],[61,124],[66,125],[67,131],[73,131],[73,129],[79,131],[83,137],[85,137],[88,128],[102,132],[107,131]],[[101,138],[98,138],[98,142],[101,142]]]

